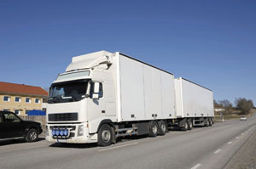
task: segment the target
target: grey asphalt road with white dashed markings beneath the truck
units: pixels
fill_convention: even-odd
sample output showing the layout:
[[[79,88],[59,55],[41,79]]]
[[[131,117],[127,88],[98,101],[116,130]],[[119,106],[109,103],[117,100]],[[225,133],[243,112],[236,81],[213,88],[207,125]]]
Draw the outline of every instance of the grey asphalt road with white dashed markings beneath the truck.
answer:
[[[127,138],[109,147],[96,144],[0,143],[1,169],[43,168],[224,168],[256,131],[256,115],[156,138]]]

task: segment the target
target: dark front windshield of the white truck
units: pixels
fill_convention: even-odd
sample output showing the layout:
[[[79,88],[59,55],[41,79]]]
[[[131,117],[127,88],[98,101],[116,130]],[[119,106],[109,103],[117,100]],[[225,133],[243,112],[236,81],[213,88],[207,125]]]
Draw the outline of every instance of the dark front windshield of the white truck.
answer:
[[[49,104],[75,102],[85,98],[88,82],[65,82],[49,88]]]

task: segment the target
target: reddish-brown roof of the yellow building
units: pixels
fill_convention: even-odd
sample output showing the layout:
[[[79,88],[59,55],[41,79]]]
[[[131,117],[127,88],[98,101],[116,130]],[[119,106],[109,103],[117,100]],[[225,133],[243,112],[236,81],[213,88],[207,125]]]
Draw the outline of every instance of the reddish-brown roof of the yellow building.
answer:
[[[25,84],[15,84],[10,82],[0,82],[0,93],[32,95],[42,97],[48,96],[48,92],[46,92],[41,87],[28,86]]]

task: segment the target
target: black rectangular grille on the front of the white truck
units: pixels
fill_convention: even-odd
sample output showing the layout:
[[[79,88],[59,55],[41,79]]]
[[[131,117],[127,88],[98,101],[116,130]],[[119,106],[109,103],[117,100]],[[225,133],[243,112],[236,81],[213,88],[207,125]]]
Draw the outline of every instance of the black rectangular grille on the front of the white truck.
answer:
[[[78,121],[78,113],[58,113],[58,114],[49,114],[48,121]]]

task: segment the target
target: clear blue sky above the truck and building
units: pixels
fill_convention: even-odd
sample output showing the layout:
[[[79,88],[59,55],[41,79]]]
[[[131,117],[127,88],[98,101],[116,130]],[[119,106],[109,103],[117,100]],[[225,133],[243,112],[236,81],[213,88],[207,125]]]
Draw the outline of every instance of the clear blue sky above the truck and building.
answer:
[[[255,1],[0,1],[0,81],[49,87],[73,56],[122,52],[256,104]]]

